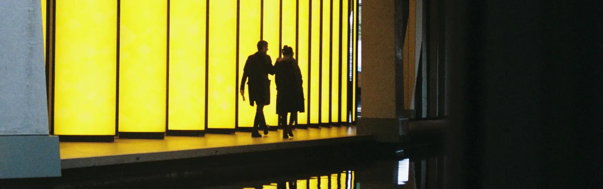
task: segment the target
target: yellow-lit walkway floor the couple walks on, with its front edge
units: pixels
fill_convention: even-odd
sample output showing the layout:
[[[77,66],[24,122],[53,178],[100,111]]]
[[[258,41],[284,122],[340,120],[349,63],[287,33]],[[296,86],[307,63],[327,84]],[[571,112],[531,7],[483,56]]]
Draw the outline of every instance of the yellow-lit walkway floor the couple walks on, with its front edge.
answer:
[[[166,136],[164,140],[115,138],[113,143],[61,142],[60,155],[62,168],[71,169],[373,140],[369,135],[356,135],[355,126],[295,129],[294,135],[284,139],[279,130],[261,138],[251,138],[250,132],[236,132]]]

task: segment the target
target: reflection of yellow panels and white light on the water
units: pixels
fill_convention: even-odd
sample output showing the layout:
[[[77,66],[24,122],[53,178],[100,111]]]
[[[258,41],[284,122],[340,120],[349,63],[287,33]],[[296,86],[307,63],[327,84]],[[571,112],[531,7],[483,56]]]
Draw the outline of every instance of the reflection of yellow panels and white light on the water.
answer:
[[[350,170],[317,173],[315,176],[245,183],[242,188],[444,188],[444,157],[377,160]],[[237,188],[223,185],[216,188]]]

